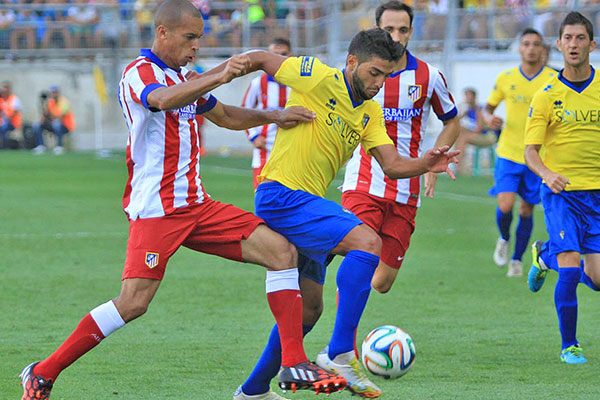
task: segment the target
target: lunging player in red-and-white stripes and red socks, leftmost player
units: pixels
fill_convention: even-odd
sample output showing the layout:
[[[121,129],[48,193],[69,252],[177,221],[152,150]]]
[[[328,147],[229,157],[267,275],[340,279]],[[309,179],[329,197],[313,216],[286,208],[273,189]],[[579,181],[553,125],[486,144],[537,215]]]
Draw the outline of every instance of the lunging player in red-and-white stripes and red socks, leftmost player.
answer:
[[[343,389],[343,379],[309,363],[304,353],[294,246],[254,214],[212,200],[199,174],[197,113],[235,130],[274,122],[290,128],[312,121],[314,113],[302,107],[244,109],[207,94],[246,73],[249,61],[247,56],[234,56],[203,75],[182,68],[194,58],[204,28],[202,16],[187,0],[163,2],[155,27],[152,49],[142,50],[127,66],[119,85],[129,128],[123,207],[130,222],[121,293],[87,314],[48,358],[25,367],[22,400],[48,399],[65,368],[144,314],[169,258],[181,246],[266,267],[267,298],[279,327],[282,366],[303,376],[294,382],[299,389]]]

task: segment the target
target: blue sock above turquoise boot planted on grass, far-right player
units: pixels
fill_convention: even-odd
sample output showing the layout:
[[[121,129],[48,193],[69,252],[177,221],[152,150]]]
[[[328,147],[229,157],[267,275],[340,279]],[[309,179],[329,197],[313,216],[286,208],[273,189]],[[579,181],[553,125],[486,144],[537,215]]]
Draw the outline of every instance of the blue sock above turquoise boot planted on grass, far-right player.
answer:
[[[580,267],[558,269],[558,281],[554,290],[554,304],[558,314],[558,326],[563,350],[577,344],[577,284],[581,279]]]

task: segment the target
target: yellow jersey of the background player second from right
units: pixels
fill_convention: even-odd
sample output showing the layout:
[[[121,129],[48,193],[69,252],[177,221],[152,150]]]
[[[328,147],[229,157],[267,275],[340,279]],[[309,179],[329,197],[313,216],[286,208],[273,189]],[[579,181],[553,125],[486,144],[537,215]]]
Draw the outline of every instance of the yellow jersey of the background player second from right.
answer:
[[[521,67],[506,70],[496,78],[496,84],[488,98],[488,104],[497,107],[502,100],[506,102],[506,120],[498,140],[498,157],[519,164],[525,164],[525,123],[529,104],[535,92],[541,89],[556,71],[543,67],[532,78],[525,76]]]

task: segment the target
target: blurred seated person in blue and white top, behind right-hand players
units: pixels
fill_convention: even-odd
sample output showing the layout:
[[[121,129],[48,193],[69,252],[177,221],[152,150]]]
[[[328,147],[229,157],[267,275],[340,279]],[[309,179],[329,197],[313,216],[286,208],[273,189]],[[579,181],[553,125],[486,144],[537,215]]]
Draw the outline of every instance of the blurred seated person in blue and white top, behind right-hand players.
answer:
[[[481,105],[477,103],[477,92],[475,89],[466,88],[464,90],[465,100],[459,105],[458,118],[460,119],[460,132],[455,149],[460,150],[458,157],[458,173],[468,173],[467,166],[463,162],[465,156],[465,148],[467,144],[479,147],[491,146],[496,143],[498,137],[496,134],[488,130],[483,122],[483,114],[481,113]]]

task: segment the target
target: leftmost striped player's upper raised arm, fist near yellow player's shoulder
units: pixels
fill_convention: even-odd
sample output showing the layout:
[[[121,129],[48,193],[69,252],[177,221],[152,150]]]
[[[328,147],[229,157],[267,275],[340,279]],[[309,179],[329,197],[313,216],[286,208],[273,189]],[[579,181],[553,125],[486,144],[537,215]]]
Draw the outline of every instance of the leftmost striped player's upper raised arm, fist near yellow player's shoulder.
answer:
[[[193,79],[148,94],[148,105],[158,110],[173,110],[192,104],[200,96],[247,73],[248,60],[236,54],[203,74],[188,74]]]

